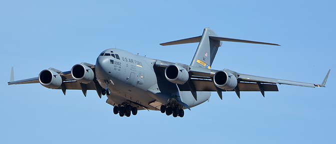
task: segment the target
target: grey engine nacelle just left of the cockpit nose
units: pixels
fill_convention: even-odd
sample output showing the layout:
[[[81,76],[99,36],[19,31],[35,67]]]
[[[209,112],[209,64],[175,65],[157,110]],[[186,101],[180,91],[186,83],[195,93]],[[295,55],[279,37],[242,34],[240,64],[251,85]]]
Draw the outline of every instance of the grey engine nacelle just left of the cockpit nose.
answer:
[[[94,78],[93,70],[84,64],[75,64],[71,68],[71,75],[74,80],[80,83],[90,83]]]

